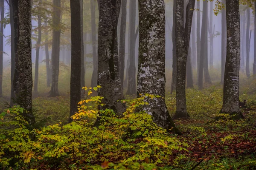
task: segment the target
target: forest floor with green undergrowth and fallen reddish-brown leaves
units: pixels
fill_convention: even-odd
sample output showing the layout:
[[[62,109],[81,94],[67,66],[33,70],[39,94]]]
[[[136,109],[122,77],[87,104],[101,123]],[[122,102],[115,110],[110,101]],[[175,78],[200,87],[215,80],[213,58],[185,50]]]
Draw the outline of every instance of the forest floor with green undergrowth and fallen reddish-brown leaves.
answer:
[[[47,97],[46,93],[49,88],[42,85],[42,82],[45,82],[45,74],[44,70],[41,69],[41,71],[43,76],[39,77],[40,93],[33,99],[36,119],[38,121],[44,120],[46,125],[53,125],[58,122],[66,124],[70,102],[67,92],[69,82],[65,79],[69,77],[69,71],[60,71],[63,74],[59,83],[61,96],[51,98]],[[4,91],[5,96],[9,94],[9,83],[6,81],[3,85],[3,88],[7,89]],[[241,108],[245,119],[239,121],[230,119],[216,121],[212,119],[218,114],[222,106],[222,87],[218,83],[208,85],[203,91],[199,91],[197,88],[187,89],[187,110],[191,119],[175,120],[176,126],[183,135],[169,134],[180,142],[186,142],[188,144],[187,151],[175,150],[169,158],[170,164],[158,164],[157,169],[256,170],[255,87],[256,81],[253,79],[241,82],[240,100],[247,100],[247,103]],[[130,99],[134,97],[126,96]],[[4,102],[9,102],[9,98],[0,98],[1,110],[5,108]],[[171,115],[175,113],[175,103],[175,94],[167,93],[166,105]],[[137,139],[137,141],[140,140],[142,139]],[[177,160],[177,157],[180,159]],[[174,164],[175,160],[177,162]],[[143,167],[140,168],[143,169]]]

